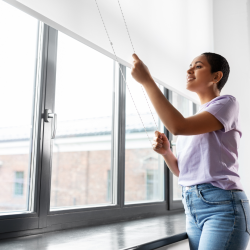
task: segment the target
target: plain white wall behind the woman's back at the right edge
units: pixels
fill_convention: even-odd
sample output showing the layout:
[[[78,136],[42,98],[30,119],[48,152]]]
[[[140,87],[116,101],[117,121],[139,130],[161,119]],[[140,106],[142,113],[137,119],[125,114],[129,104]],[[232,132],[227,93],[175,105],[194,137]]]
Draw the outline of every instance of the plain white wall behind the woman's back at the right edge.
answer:
[[[213,13],[214,52],[223,55],[231,69],[222,94],[240,103],[239,172],[250,198],[250,0],[214,0]]]

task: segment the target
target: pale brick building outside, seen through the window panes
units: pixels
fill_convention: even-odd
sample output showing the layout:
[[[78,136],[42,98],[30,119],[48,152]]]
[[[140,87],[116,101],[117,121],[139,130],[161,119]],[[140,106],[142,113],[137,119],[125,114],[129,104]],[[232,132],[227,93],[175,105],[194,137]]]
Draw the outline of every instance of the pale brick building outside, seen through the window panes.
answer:
[[[144,120],[147,117],[151,119],[144,114]],[[111,118],[93,119],[58,123],[51,165],[51,209],[112,202]],[[97,125],[91,130],[91,124]],[[153,136],[152,124],[146,124]],[[27,209],[29,180],[33,180],[29,133],[28,127],[0,129],[0,211]],[[125,202],[161,200],[163,168],[161,156],[150,148],[141,125],[126,124]]]

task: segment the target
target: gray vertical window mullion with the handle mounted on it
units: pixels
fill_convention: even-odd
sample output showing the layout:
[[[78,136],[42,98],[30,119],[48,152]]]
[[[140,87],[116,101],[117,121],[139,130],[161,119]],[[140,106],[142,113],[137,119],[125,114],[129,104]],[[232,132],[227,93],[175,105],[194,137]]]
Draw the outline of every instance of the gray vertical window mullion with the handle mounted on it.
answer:
[[[55,84],[56,84],[56,60],[57,60],[57,30],[44,25],[43,39],[43,62],[42,62],[42,84],[45,85],[45,100],[42,107],[54,112]],[[42,155],[41,155],[41,184],[39,197],[39,228],[47,226],[47,215],[50,203],[50,183],[51,183],[51,156],[52,156],[52,126],[50,122],[43,122]]]

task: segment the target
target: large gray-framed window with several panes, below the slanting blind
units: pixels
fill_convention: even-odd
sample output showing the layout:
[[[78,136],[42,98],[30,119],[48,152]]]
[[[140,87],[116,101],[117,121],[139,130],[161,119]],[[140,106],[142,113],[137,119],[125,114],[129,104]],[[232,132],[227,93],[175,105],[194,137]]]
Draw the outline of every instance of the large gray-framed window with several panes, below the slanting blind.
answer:
[[[177,179],[152,149],[155,130],[174,153],[177,137],[130,69],[3,1],[0,21],[0,238],[182,209]]]

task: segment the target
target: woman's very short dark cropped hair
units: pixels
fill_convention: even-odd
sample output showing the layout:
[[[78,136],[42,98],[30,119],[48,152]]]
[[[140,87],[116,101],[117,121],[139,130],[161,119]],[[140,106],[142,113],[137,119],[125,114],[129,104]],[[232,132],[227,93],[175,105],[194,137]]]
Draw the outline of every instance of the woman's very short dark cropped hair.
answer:
[[[212,52],[205,52],[205,53],[202,53],[202,55],[206,56],[207,61],[210,64],[211,73],[222,71],[223,77],[220,79],[220,81],[217,84],[218,89],[221,91],[221,89],[226,84],[229,73],[230,73],[230,67],[226,58],[224,58],[223,56],[219,54],[212,53]]]

